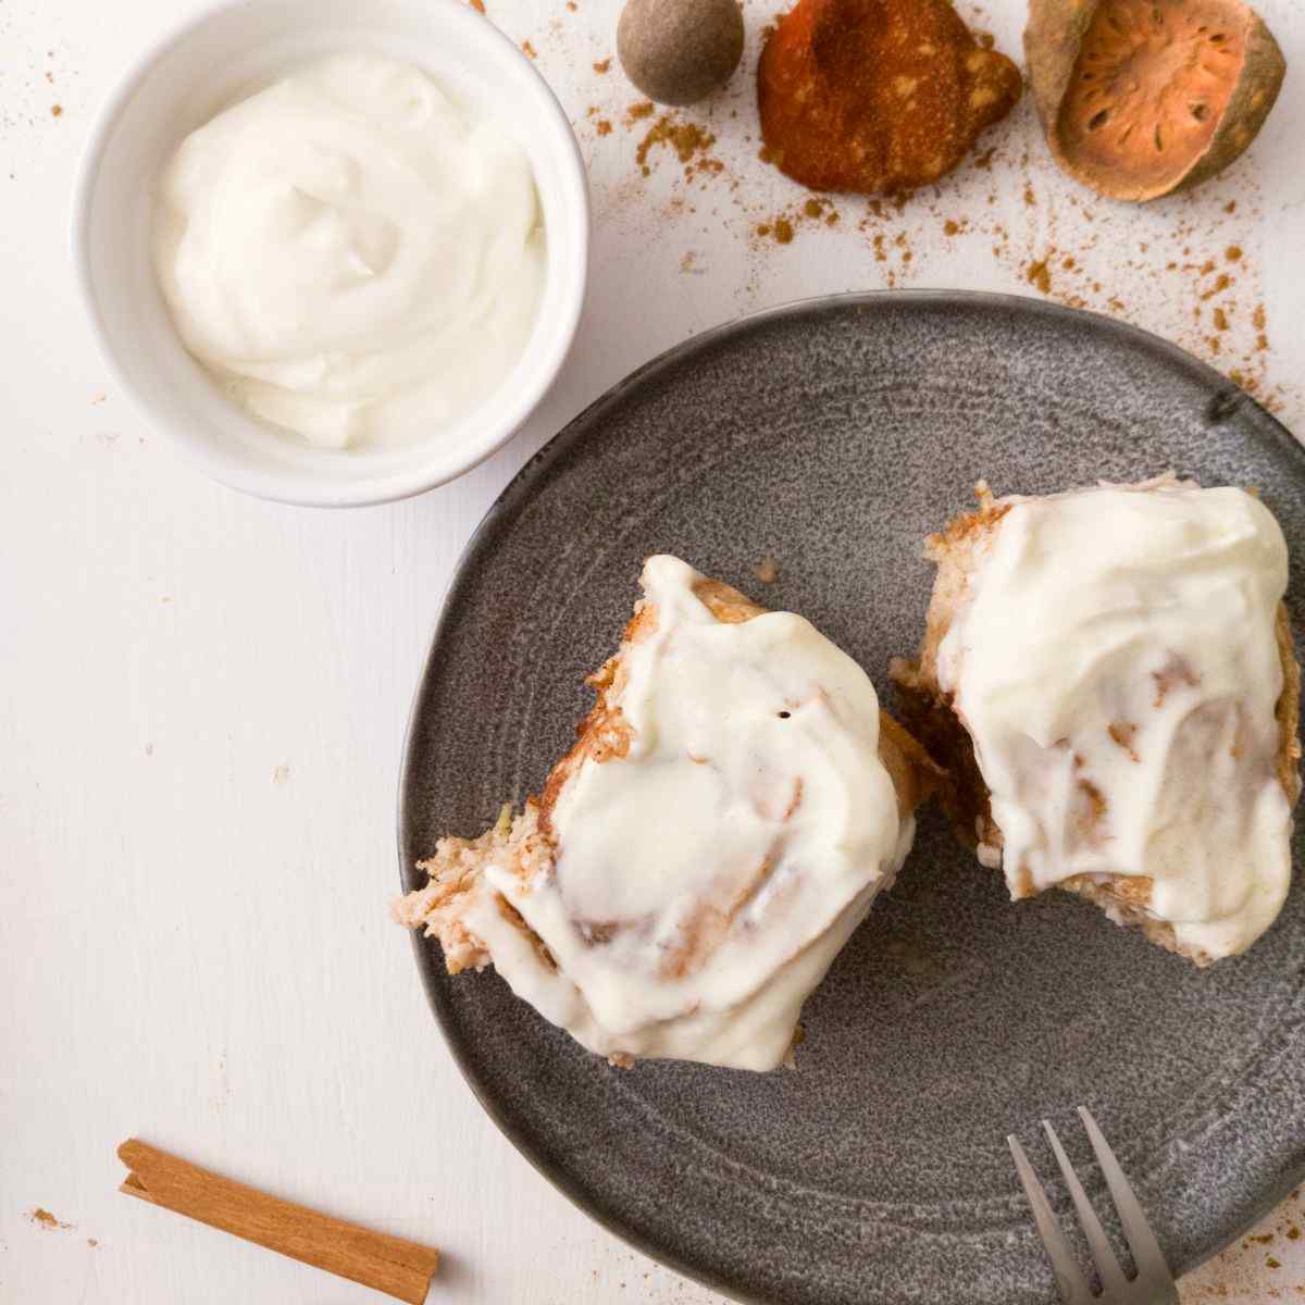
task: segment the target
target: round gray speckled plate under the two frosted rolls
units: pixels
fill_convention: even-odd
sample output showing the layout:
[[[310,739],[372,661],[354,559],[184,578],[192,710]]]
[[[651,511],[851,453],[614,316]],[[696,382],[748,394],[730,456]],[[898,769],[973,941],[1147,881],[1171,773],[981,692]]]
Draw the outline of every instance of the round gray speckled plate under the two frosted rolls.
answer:
[[[1167,467],[1262,489],[1305,609],[1305,454],[1155,337],[923,292],[799,304],[672,350],[559,435],[467,549],[414,707],[405,886],[438,835],[478,834],[540,784],[646,555],[810,617],[891,706],[889,658],[915,649],[929,594],[920,540],[977,476],[1047,492]],[[769,587],[752,574],[765,555],[783,568]],[[612,1070],[492,972],[446,977],[433,942],[416,955],[467,1082],[522,1152],[613,1232],[746,1300],[1053,1300],[1005,1135],[1049,1174],[1051,1118],[1100,1197],[1077,1104],[1180,1268],[1305,1172],[1298,886],[1248,955],[1201,972],[1069,897],[1011,904],[925,812],[805,1007],[796,1071],[767,1075]]]

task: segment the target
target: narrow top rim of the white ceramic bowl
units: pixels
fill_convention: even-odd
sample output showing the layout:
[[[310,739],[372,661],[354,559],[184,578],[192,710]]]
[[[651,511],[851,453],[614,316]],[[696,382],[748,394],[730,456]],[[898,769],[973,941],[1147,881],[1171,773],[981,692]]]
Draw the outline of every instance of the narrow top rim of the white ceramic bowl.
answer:
[[[309,10],[315,8],[312,0],[287,0],[287,3],[299,4],[301,8]],[[170,25],[141,50],[140,54],[130,59],[127,67],[119,73],[116,82],[100,100],[91,119],[90,132],[82,146],[73,181],[68,240],[77,296],[90,324],[97,354],[100,363],[108,369],[114,385],[127,398],[134,415],[150,431],[164,435],[168,444],[191,466],[228,488],[239,489],[256,499],[304,508],[358,508],[395,502],[401,499],[425,493],[428,489],[435,489],[465,475],[508,444],[548,394],[570,354],[572,343],[579,329],[589,290],[589,258],[592,230],[589,174],[574,128],[552,86],[548,85],[534,63],[517,48],[509,37],[470,7],[457,4],[455,0],[431,0],[425,12],[433,16],[435,22],[441,22],[444,17],[449,17],[454,22],[463,23],[467,30],[471,30],[470,23],[483,23],[487,48],[497,50],[505,60],[509,56],[515,60],[519,68],[529,70],[535,89],[543,93],[539,107],[549,132],[559,145],[559,177],[564,197],[574,214],[573,221],[569,221],[566,224],[572,227],[572,236],[576,240],[577,271],[566,278],[568,284],[564,287],[557,318],[555,322],[549,322],[552,329],[542,337],[538,330],[539,318],[536,318],[531,341],[538,339],[542,343],[534,346],[539,350],[539,356],[530,371],[529,384],[519,388],[515,399],[510,403],[495,435],[491,438],[468,441],[466,454],[452,465],[438,471],[431,471],[424,466],[405,467],[401,470],[377,470],[364,472],[348,480],[321,479],[316,472],[303,468],[278,467],[268,470],[243,466],[238,459],[218,453],[206,440],[191,440],[181,436],[175,429],[174,423],[164,420],[137,388],[125,367],[120,363],[111,334],[104,324],[95,294],[90,260],[93,198],[99,184],[104,154],[123,111],[144,85],[150,72],[167,54],[192,39],[201,27],[213,20],[241,9],[248,9],[248,0],[215,0],[215,3],[206,4],[198,12],[187,16],[183,21]],[[361,26],[368,25],[365,10],[359,10],[358,17]],[[534,166],[535,155],[531,154],[530,157]],[[530,356],[531,345],[527,345],[527,351],[522,354],[518,365]]]

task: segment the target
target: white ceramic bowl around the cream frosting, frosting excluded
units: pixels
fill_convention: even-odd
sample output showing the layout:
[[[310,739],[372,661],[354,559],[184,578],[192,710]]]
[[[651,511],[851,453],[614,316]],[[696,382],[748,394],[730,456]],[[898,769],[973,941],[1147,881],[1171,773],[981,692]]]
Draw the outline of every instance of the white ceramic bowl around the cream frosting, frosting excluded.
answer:
[[[239,408],[181,347],[153,268],[155,184],[181,138],[286,69],[341,50],[416,64],[506,128],[534,166],[548,247],[539,317],[515,369],[453,428],[384,453],[308,448]],[[100,347],[150,424],[228,485],[318,506],[420,493],[505,444],[562,365],[587,257],[589,191],[566,115],[530,60],[463,0],[258,0],[207,10],[142,55],[100,110],[73,217],[73,261]]]

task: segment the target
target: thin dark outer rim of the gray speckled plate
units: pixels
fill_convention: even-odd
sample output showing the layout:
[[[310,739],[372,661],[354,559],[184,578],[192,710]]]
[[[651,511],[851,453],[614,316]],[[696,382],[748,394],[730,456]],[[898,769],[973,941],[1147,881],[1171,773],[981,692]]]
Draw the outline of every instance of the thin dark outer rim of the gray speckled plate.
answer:
[[[1211,390],[1211,402],[1221,399],[1225,405],[1223,411],[1224,420],[1227,420],[1227,418],[1236,410],[1248,408],[1250,416],[1254,419],[1259,436],[1268,442],[1280,445],[1288,458],[1297,459],[1301,474],[1305,476],[1305,445],[1302,445],[1301,441],[1297,440],[1296,436],[1293,436],[1292,432],[1253,394],[1237,385],[1236,381],[1229,380],[1229,377],[1224,376],[1203,359],[1197,358],[1194,354],[1190,354],[1181,346],[1165,339],[1163,335],[1158,335],[1155,331],[1150,331],[1142,326],[1135,326],[1131,322],[1121,321],[1120,318],[1109,317],[1105,313],[1092,312],[1084,308],[1069,308],[1064,304],[1052,303],[1044,299],[1035,299],[1030,295],[983,290],[945,288],[840,291],[837,294],[812,295],[801,299],[786,300],[784,303],[774,304],[769,308],[745,313],[743,317],[729,318],[728,321],[719,322],[715,326],[698,331],[686,339],[677,341],[662,352],[655,354],[646,363],[639,364],[632,372],[626,373],[615,385],[609,386],[590,403],[585,405],[585,407],[572,416],[559,431],[549,436],[547,442],[536,453],[534,453],[515,472],[515,475],[512,476],[506,485],[504,485],[502,491],[485,509],[484,515],[476,523],[476,527],[472,530],[466,544],[458,553],[449,583],[440,600],[438,612],[432,626],[429,645],[427,654],[422,660],[422,668],[412,693],[412,702],[408,709],[407,722],[403,728],[395,821],[399,887],[402,891],[406,893],[420,886],[415,873],[410,874],[408,861],[405,855],[405,846],[408,842],[411,829],[408,821],[410,804],[407,801],[407,793],[414,771],[415,727],[423,715],[427,689],[431,683],[432,666],[448,630],[454,622],[455,612],[459,606],[459,596],[470,585],[468,577],[474,570],[476,559],[483,551],[492,545],[495,532],[502,527],[508,513],[515,506],[517,500],[523,496],[529,496],[534,482],[538,480],[549,466],[570,452],[573,445],[589,437],[594,423],[604,410],[619,403],[630,390],[636,389],[649,377],[683,361],[685,358],[711,348],[733,335],[746,334],[748,331],[756,330],[776,320],[813,317],[825,312],[857,307],[903,304],[920,307],[946,307],[947,304],[955,304],[963,308],[979,307],[984,309],[1005,308],[1010,312],[1024,313],[1032,317],[1045,317],[1062,322],[1086,321],[1088,329],[1091,330],[1104,331],[1107,334],[1131,339],[1141,348],[1144,348],[1154,355],[1167,358],[1169,361],[1188,369],[1195,380],[1206,381]],[[412,870],[415,870],[415,867],[412,867]],[[482,1083],[472,1069],[463,1043],[453,1028],[453,1021],[446,1007],[444,993],[437,984],[428,949],[425,946],[425,936],[418,930],[411,930],[408,941],[412,947],[412,955],[416,962],[418,974],[422,980],[422,988],[425,992],[427,1002],[429,1004],[435,1021],[440,1027],[444,1043],[453,1056],[458,1073],[462,1075],[466,1086],[471,1090],[471,1094],[480,1108],[493,1121],[495,1126],[512,1143],[517,1152],[530,1164],[530,1167],[545,1178],[548,1184],[560,1191],[569,1202],[572,1202],[572,1205],[581,1210],[587,1218],[592,1219],[600,1228],[617,1237],[625,1245],[632,1246],[641,1254],[647,1255],[656,1263],[673,1270],[675,1272],[709,1288],[710,1291],[719,1292],[729,1300],[740,1301],[743,1305],[771,1305],[770,1298],[741,1292],[736,1284],[729,1283],[711,1271],[685,1262],[673,1250],[660,1245],[654,1245],[650,1238],[645,1237],[639,1232],[639,1229],[629,1227],[611,1216],[598,1201],[590,1197],[579,1182],[573,1181],[560,1168],[555,1167],[545,1156],[538,1154],[535,1144],[526,1135],[526,1130],[518,1128],[506,1116],[506,1113],[500,1109],[491,1095],[488,1084]],[[1302,1182],[1305,1182],[1305,1160],[1301,1161],[1297,1169],[1291,1171],[1285,1177],[1266,1189],[1266,1191],[1251,1203],[1250,1208],[1245,1214],[1245,1218],[1238,1221],[1233,1231],[1229,1232],[1218,1245],[1210,1248],[1203,1254],[1198,1254],[1188,1262],[1171,1265],[1174,1276],[1181,1278],[1220,1254],[1236,1242],[1245,1232],[1259,1223],[1265,1215],[1275,1210],[1288,1197],[1288,1194]]]

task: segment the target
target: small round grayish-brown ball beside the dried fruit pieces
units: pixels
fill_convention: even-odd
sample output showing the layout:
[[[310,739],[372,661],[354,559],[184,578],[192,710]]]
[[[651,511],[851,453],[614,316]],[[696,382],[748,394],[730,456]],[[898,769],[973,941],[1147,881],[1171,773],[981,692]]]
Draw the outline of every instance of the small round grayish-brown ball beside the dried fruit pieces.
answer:
[[[616,55],[649,99],[692,104],[739,67],[739,0],[628,0],[616,27]]]

